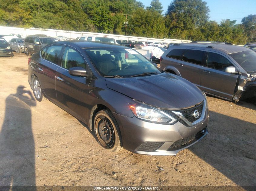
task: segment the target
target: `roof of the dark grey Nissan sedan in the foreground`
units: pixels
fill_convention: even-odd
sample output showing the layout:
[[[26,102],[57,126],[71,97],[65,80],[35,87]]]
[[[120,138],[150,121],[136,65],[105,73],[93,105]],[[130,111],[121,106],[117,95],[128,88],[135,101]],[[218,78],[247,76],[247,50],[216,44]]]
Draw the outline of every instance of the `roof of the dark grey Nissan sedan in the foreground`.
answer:
[[[67,40],[58,41],[55,44],[66,44],[70,46],[78,46],[80,48],[128,48],[126,46],[114,44],[114,43],[104,43],[95,41],[78,41],[78,40]]]

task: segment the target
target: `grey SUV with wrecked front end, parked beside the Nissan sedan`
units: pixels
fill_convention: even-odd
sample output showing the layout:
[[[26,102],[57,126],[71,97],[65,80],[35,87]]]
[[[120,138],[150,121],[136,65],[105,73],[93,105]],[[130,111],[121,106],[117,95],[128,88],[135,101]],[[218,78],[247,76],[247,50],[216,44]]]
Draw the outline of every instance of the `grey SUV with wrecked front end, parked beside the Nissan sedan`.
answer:
[[[179,75],[206,94],[237,102],[256,97],[256,53],[222,42],[174,44],[160,58],[160,68]]]

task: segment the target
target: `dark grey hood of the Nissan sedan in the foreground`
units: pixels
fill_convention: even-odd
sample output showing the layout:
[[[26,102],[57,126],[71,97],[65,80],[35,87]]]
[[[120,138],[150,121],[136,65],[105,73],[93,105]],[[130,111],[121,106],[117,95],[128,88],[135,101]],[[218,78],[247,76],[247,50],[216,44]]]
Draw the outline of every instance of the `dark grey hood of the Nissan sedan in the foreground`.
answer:
[[[108,88],[159,108],[186,108],[204,100],[202,91],[194,84],[168,72],[134,78],[105,79]]]

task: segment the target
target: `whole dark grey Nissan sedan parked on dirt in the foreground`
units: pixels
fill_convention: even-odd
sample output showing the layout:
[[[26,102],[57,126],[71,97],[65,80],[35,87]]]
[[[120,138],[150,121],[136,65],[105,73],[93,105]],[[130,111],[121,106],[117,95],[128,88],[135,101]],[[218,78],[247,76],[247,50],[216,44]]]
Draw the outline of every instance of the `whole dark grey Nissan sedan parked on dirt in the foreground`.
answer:
[[[28,82],[36,100],[87,124],[108,151],[176,155],[208,134],[205,94],[126,46],[53,43],[28,59]]]

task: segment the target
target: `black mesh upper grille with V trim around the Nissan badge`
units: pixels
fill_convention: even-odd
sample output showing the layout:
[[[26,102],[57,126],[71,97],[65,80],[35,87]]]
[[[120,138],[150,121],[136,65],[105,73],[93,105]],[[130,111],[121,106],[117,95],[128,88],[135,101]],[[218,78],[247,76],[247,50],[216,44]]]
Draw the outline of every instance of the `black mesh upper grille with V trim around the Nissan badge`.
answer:
[[[188,121],[190,123],[193,123],[194,121],[196,121],[197,119],[199,119],[202,115],[202,111],[203,111],[203,107],[204,107],[204,101],[194,107],[191,107],[191,108],[188,108],[188,109],[185,109],[185,110],[175,110],[175,111],[178,111],[180,113],[182,113],[182,115],[188,119]],[[194,117],[194,112],[195,110],[198,110],[199,112],[199,115],[197,118]],[[170,110],[166,110],[166,112],[170,113],[173,115],[172,111]],[[187,125],[185,124],[185,122],[183,120],[181,120],[178,116],[176,117],[181,123],[183,123],[184,125]]]

